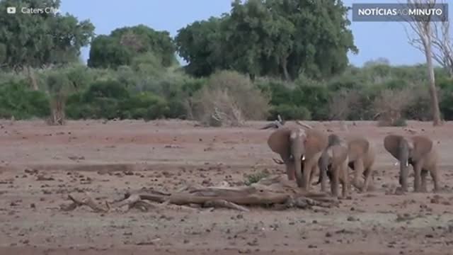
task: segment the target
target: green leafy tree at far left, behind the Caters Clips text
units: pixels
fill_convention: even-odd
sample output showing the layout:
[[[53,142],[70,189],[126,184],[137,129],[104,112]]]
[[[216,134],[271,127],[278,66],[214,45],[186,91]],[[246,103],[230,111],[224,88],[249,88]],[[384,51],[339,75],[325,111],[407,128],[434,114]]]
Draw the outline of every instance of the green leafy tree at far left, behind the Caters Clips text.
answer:
[[[4,0],[7,6],[22,8],[59,8],[59,0]],[[0,12],[0,67],[20,71],[26,69],[33,89],[38,84],[33,68],[78,61],[80,48],[88,45],[94,26],[90,21],[78,21],[69,14],[28,14],[18,11],[11,15]]]

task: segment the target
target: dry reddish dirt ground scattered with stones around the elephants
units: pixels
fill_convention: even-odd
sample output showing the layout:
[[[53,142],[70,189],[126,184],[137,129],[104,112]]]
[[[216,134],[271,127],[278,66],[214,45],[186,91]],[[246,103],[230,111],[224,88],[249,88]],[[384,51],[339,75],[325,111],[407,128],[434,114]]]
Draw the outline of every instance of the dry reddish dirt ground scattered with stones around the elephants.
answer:
[[[104,214],[85,207],[64,212],[60,205],[78,191],[103,201],[142,187],[239,186],[245,174],[282,174],[266,144],[272,130],[259,130],[264,123],[258,122],[244,128],[183,121],[0,124],[0,254],[453,254],[452,123],[351,122],[348,131],[340,123],[309,123],[366,135],[377,147],[376,190],[353,191],[338,208],[238,212],[168,205]],[[398,166],[382,145],[389,132],[417,132],[438,143],[440,193],[389,193],[398,185]]]

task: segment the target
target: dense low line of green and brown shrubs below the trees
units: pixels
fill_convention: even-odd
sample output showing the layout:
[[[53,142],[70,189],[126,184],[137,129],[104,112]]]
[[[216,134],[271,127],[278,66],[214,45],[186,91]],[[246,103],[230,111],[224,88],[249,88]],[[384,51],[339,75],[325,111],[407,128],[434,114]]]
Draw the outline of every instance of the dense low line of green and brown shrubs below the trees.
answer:
[[[437,70],[440,108],[453,119],[453,80]],[[130,67],[91,69],[80,65],[40,70],[40,90],[28,79],[0,74],[0,118],[45,118],[55,84],[67,84],[67,118],[77,119],[197,119],[209,124],[217,109],[231,118],[273,120],[430,120],[430,96],[425,67],[384,64],[350,67],[326,81],[282,81],[222,71],[207,79],[188,77],[171,67],[137,72]],[[54,84],[54,85],[52,85]],[[52,85],[52,86],[50,86]],[[61,91],[61,88],[60,90]],[[217,111],[216,110],[216,111]],[[233,119],[230,118],[230,121]],[[237,120],[239,121],[239,120]]]

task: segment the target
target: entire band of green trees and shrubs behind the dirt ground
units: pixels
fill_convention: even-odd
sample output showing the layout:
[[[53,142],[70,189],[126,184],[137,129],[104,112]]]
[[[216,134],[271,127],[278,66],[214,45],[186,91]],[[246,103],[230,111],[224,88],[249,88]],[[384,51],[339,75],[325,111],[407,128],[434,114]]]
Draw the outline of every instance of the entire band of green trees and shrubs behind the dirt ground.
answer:
[[[176,38],[144,25],[94,36],[71,15],[2,12],[0,118],[430,120],[425,66],[348,63],[358,49],[346,11],[340,1],[234,1]],[[452,120],[453,81],[435,72],[442,117]]]

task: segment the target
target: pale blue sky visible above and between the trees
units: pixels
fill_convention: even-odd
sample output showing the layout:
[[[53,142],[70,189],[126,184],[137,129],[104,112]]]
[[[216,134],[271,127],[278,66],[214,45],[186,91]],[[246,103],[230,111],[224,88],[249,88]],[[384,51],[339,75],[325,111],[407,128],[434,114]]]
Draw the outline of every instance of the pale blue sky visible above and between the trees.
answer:
[[[405,0],[343,0],[352,3],[398,3]],[[109,34],[116,28],[144,24],[154,30],[167,30],[175,36],[180,28],[210,16],[229,12],[231,0],[62,0],[60,12],[71,13],[80,20],[89,19],[96,27],[96,35]],[[452,13],[452,5],[449,5]],[[351,20],[351,18],[350,18]],[[350,26],[359,53],[349,54],[355,66],[384,57],[391,64],[425,62],[422,52],[408,44],[408,37],[400,22],[354,22]],[[81,52],[88,59],[89,47]]]

